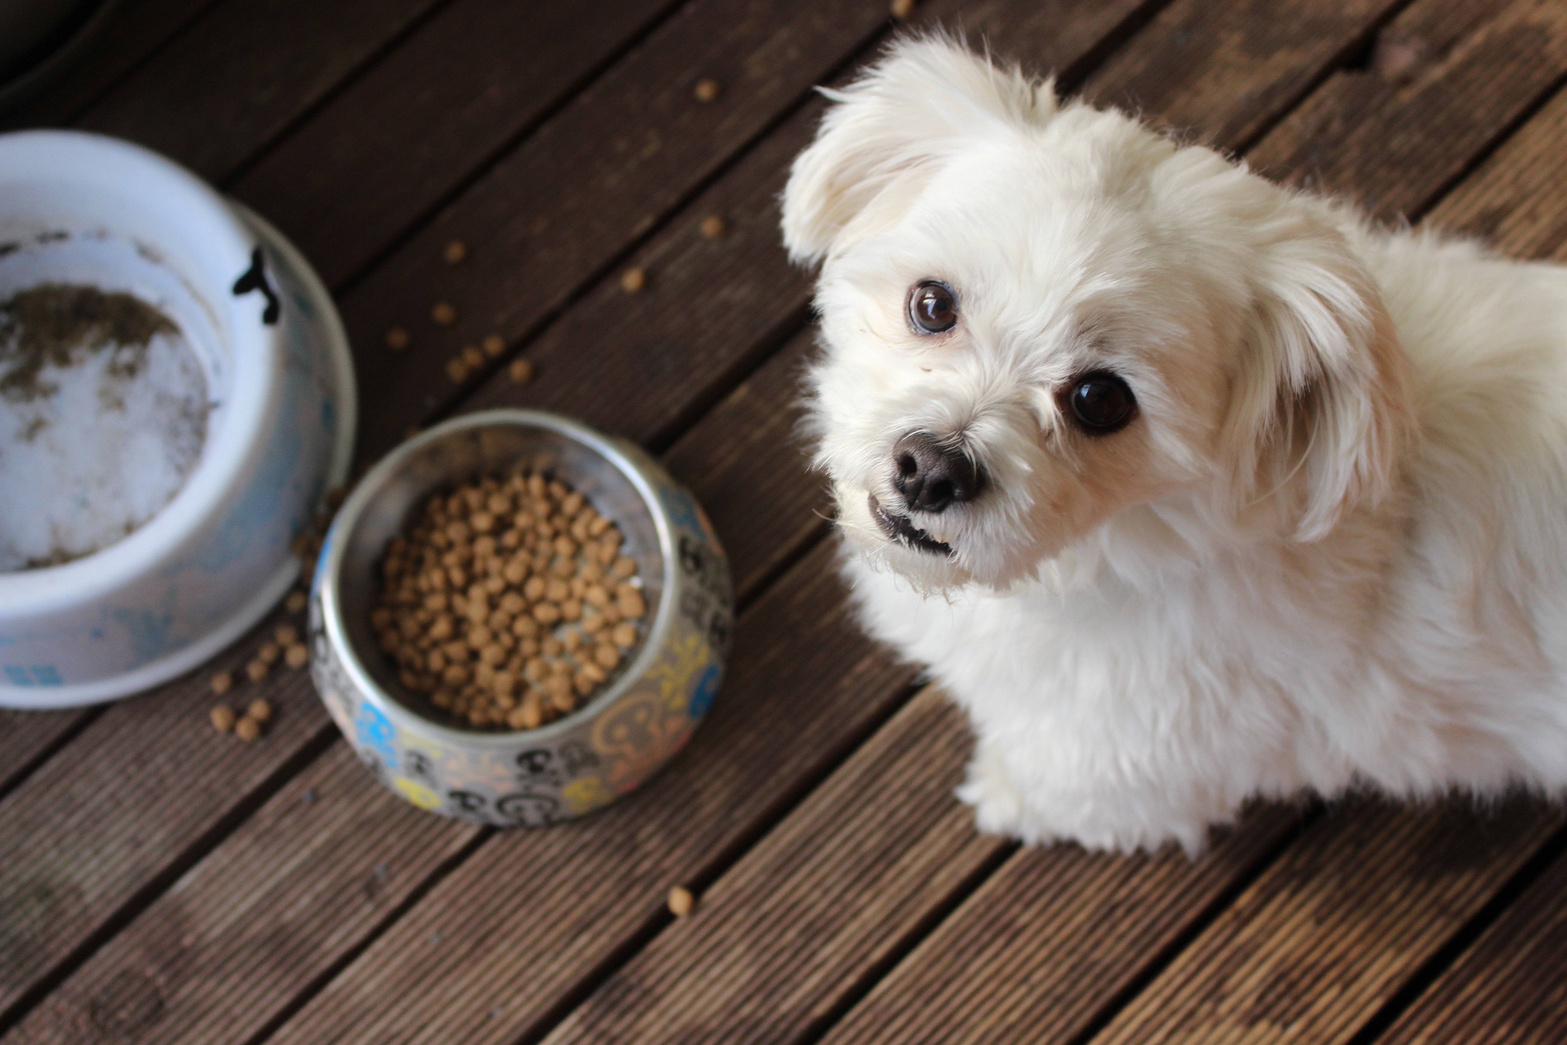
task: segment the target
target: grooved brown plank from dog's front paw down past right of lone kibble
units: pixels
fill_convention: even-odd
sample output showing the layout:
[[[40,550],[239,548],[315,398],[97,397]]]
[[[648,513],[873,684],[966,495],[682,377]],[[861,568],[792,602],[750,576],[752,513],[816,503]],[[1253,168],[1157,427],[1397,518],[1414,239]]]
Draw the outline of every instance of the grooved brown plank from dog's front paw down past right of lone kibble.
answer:
[[[796,1039],[1009,848],[953,797],[968,747],[925,688],[545,1040]]]

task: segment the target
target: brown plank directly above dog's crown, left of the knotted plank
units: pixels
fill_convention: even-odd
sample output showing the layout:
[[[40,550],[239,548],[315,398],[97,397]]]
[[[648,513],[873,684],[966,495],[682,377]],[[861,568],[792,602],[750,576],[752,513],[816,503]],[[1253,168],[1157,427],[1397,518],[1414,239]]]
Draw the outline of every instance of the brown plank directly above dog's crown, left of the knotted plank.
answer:
[[[1083,94],[1156,114],[1183,138],[1244,149],[1343,61],[1387,0],[1172,3],[1100,66]],[[1232,71],[1252,74],[1236,80]]]

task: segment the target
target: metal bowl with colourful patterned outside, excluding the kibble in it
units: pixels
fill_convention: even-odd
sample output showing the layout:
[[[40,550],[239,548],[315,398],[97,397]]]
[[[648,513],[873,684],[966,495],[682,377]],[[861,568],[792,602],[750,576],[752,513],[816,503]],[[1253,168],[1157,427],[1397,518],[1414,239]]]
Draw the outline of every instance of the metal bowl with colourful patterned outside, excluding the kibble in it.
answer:
[[[561,479],[621,528],[650,624],[630,664],[566,718],[517,732],[436,721],[376,645],[381,558],[431,494],[519,468]],[[447,816],[542,826],[608,805],[689,739],[718,692],[732,622],[713,526],[652,457],[555,414],[486,410],[403,443],[343,503],[310,595],[310,671],[385,786]]]

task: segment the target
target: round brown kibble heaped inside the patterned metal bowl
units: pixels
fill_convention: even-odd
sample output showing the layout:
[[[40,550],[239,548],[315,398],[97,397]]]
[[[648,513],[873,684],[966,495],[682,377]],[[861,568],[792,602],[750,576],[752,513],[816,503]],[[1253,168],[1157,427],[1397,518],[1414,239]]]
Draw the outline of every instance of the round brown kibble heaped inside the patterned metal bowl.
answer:
[[[559,481],[470,483],[387,547],[370,622],[432,716],[536,729],[591,700],[641,641],[647,602],[621,542]]]

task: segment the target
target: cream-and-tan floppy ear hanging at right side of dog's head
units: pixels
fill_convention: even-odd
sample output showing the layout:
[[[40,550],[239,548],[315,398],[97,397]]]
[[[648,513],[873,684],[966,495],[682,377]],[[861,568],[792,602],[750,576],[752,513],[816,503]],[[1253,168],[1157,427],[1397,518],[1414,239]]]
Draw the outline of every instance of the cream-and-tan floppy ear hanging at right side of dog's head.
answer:
[[[1279,191],[1279,190],[1274,190]],[[1258,222],[1254,307],[1224,439],[1236,497],[1294,497],[1294,536],[1393,489],[1413,434],[1407,360],[1330,212],[1288,196]]]

